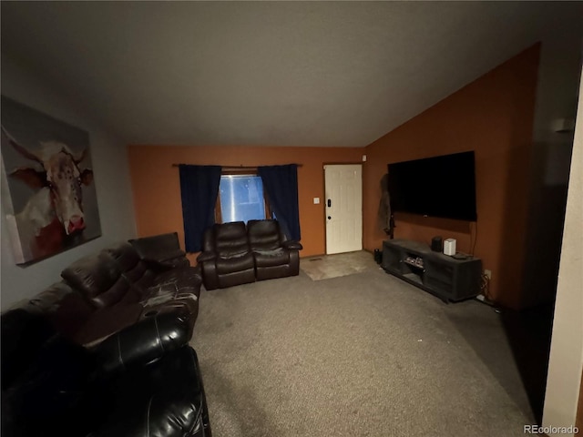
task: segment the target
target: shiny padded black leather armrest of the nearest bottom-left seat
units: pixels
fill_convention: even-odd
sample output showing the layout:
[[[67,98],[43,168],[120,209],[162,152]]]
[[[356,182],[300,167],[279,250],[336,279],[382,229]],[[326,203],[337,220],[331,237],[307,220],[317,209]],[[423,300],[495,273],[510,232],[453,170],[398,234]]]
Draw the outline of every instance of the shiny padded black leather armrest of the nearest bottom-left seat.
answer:
[[[186,310],[154,314],[107,337],[92,351],[99,376],[107,376],[149,362],[179,349],[192,337]]]

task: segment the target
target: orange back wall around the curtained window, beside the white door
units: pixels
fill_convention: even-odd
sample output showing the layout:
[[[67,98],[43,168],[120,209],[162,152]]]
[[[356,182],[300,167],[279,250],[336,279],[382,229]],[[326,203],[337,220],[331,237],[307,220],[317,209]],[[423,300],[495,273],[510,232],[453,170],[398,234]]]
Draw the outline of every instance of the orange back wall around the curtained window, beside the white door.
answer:
[[[269,166],[298,168],[302,257],[325,252],[323,164],[362,161],[362,147],[173,147],[129,146],[138,236],[179,232],[184,243],[179,169],[172,164]],[[321,198],[319,205],[313,198]],[[189,256],[191,261],[195,257]]]

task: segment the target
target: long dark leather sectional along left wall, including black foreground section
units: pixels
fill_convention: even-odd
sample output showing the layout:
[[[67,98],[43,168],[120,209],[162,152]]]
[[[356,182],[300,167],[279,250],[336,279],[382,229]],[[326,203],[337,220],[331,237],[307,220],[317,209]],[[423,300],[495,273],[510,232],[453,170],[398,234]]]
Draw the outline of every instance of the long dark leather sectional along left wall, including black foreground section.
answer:
[[[199,268],[164,259],[120,243],[2,314],[2,435],[210,436]]]

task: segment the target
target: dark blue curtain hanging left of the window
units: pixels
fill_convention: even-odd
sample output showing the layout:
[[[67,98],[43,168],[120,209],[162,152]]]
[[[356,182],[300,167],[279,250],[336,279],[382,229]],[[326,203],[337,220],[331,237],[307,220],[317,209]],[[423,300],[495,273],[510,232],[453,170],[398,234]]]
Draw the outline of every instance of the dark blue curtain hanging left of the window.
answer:
[[[187,252],[202,249],[204,230],[215,223],[220,166],[179,165],[184,245]]]

